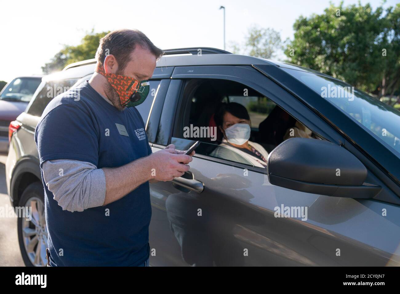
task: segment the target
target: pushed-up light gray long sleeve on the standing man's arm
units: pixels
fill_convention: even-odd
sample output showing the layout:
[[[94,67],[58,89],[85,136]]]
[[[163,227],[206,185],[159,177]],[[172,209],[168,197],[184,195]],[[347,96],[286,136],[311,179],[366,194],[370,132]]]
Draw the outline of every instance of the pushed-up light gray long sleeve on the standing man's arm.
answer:
[[[94,164],[70,159],[47,160],[42,170],[44,182],[63,210],[84,211],[104,204],[106,176]]]

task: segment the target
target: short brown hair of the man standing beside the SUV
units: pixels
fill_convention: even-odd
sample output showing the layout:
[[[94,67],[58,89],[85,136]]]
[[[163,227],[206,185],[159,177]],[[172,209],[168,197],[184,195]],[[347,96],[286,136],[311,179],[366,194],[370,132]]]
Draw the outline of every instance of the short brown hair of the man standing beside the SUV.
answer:
[[[158,60],[164,51],[155,46],[152,41],[140,30],[115,30],[109,32],[100,39],[100,45],[96,51],[97,61],[104,66],[107,55],[114,55],[118,62],[118,71],[122,71],[130,61],[130,54],[136,46],[148,49]]]

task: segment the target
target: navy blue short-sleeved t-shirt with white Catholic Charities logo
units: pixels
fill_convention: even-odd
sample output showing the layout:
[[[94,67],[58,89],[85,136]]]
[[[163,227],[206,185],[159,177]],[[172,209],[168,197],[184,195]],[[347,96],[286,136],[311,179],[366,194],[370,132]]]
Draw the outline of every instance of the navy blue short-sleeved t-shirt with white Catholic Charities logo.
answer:
[[[54,98],[36,127],[41,167],[46,160],[72,159],[115,168],[151,154],[135,107],[117,110],[87,81],[74,92],[79,96],[68,91]],[[51,266],[136,266],[147,260],[148,182],[115,202],[83,212],[62,210],[46,184],[44,190]]]

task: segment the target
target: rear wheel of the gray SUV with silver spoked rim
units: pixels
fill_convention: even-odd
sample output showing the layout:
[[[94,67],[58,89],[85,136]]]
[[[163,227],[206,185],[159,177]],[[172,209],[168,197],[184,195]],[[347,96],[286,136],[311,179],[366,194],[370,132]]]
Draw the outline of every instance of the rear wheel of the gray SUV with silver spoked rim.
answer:
[[[18,241],[26,266],[46,266],[47,228],[44,217],[44,191],[40,182],[30,184],[22,193],[19,207],[31,215],[18,217]]]

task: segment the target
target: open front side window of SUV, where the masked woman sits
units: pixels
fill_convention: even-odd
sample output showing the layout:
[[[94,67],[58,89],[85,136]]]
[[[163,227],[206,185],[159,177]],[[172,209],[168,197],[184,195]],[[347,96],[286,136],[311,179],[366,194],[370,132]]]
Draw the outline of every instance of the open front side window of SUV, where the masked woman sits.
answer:
[[[228,104],[240,104],[239,109],[250,118],[248,145],[233,144],[235,141],[228,139],[217,124],[222,118],[218,109],[227,109]],[[199,140],[201,144],[196,149],[197,154],[249,166],[266,168],[269,152],[283,140],[294,136],[315,136],[264,95],[229,80],[188,81],[179,112],[171,138],[177,149],[187,150]],[[225,130],[226,126],[222,128]]]

